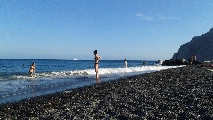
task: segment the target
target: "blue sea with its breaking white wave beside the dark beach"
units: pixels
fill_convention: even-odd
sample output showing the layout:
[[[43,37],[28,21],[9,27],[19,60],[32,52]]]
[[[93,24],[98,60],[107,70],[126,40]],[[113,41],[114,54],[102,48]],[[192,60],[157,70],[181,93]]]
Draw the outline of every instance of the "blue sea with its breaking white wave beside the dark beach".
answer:
[[[33,62],[36,74],[29,77]],[[100,60],[100,80],[96,81],[94,60],[0,59],[0,104],[177,67],[150,60],[127,62],[124,68],[124,60]]]

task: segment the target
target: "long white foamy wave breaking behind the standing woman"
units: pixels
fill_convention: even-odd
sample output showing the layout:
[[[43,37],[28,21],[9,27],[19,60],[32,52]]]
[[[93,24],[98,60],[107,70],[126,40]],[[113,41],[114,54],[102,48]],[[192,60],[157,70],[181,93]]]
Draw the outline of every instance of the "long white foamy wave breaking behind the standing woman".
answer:
[[[154,72],[163,69],[177,68],[182,66],[141,66],[141,67],[129,67],[129,68],[100,68],[99,74],[123,74],[123,73],[134,73],[134,72]],[[36,78],[58,78],[58,77],[78,77],[78,76],[93,76],[95,75],[94,69],[86,69],[86,70],[74,70],[74,71],[60,71],[60,72],[45,72],[45,73],[37,73],[35,75]],[[24,78],[28,79],[31,77],[28,76],[15,76],[18,79]],[[35,78],[34,77],[34,78]]]

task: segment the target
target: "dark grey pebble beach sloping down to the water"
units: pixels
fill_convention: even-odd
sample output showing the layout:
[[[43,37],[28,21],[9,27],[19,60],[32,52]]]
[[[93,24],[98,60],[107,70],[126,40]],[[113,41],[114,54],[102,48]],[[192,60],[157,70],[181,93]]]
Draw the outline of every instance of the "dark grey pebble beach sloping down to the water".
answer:
[[[0,119],[213,119],[213,73],[161,70],[0,105]]]

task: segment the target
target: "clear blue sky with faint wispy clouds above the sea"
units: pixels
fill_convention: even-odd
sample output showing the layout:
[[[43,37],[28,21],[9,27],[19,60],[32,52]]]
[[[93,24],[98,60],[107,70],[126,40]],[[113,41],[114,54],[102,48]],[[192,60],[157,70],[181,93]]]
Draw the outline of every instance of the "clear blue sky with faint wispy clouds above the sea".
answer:
[[[0,0],[0,59],[170,59],[213,0]]]

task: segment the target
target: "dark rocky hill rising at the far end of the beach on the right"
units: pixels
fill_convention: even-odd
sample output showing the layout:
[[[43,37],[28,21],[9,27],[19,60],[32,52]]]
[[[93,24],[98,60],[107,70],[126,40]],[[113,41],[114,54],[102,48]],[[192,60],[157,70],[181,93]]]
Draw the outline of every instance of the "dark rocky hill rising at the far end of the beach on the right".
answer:
[[[188,43],[180,46],[172,59],[188,60],[192,55],[197,56],[198,61],[213,60],[213,28],[201,36],[195,36]]]

